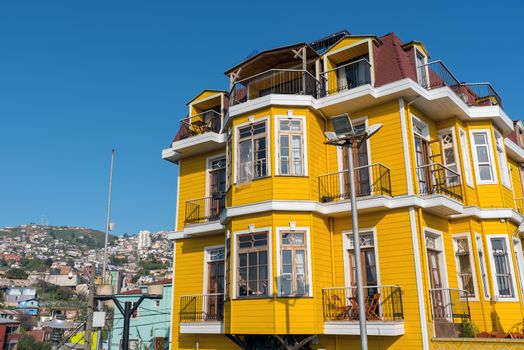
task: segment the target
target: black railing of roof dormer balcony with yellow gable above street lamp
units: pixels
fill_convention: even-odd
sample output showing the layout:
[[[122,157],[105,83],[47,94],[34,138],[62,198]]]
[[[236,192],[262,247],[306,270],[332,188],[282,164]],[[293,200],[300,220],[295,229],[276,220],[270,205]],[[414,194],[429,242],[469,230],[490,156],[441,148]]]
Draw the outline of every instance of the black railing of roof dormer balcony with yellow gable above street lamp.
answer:
[[[371,84],[371,64],[366,59],[345,64],[321,73],[323,91],[326,95]]]

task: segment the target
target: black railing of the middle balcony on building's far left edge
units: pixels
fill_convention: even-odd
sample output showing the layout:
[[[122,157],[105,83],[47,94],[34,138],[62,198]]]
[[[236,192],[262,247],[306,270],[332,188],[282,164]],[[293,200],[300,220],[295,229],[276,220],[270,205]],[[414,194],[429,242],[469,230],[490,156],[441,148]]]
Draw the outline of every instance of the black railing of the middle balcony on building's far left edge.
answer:
[[[186,202],[186,224],[199,224],[218,220],[225,208],[225,194],[192,199]]]

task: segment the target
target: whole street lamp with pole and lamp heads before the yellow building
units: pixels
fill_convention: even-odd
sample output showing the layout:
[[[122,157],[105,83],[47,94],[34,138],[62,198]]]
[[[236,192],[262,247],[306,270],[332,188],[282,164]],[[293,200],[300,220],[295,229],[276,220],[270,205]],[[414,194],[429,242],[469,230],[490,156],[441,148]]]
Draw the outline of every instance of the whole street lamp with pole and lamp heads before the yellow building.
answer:
[[[357,195],[355,193],[355,165],[353,160],[353,147],[358,147],[375,134],[382,124],[375,124],[363,131],[355,131],[348,114],[333,117],[331,119],[335,132],[325,132],[328,145],[342,146],[347,148],[349,166],[349,195],[351,199],[351,223],[353,231],[353,250],[355,256],[358,319],[360,326],[360,347],[368,349],[368,335],[366,330],[366,305],[364,299],[364,285],[362,279],[362,262],[360,260],[360,236],[358,229]]]

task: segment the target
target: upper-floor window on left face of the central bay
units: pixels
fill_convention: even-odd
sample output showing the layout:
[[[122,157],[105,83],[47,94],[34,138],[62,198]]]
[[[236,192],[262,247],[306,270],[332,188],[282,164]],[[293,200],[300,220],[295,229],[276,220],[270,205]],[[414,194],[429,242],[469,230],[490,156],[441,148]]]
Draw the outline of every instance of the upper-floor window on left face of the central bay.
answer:
[[[266,122],[239,128],[239,182],[267,176]]]

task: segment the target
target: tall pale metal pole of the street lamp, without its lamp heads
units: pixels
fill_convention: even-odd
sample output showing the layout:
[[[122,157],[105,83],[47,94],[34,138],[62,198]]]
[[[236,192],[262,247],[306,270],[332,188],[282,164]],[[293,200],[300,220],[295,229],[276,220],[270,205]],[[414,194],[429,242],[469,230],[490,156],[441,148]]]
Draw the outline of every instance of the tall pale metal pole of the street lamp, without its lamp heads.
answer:
[[[357,302],[358,319],[360,326],[360,348],[368,349],[368,335],[366,330],[366,305],[364,298],[364,286],[362,284],[362,261],[360,260],[360,237],[358,232],[357,195],[355,193],[355,166],[353,164],[353,143],[351,140],[347,145],[349,160],[349,190],[351,197],[351,222],[353,227],[353,251],[355,253],[355,269],[357,277]]]

